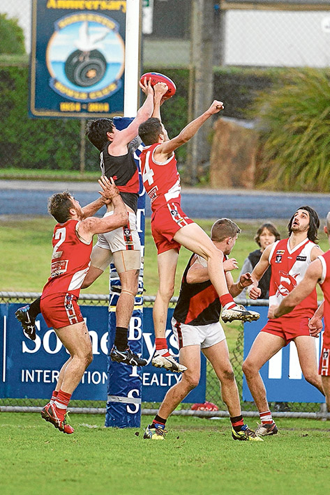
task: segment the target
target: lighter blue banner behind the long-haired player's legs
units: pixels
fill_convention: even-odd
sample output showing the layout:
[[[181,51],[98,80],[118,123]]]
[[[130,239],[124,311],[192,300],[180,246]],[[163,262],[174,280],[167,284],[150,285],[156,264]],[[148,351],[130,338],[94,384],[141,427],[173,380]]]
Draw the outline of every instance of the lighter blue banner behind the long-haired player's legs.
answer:
[[[253,323],[244,324],[244,359],[257,337],[257,334],[267,323],[268,307],[251,306],[248,308],[260,313],[260,319]],[[317,364],[322,349],[322,335],[315,339]],[[283,347],[260,370],[269,402],[324,402],[324,396],[310,385],[304,378],[299,365],[297,348],[294,342]],[[243,376],[243,400],[253,401]]]

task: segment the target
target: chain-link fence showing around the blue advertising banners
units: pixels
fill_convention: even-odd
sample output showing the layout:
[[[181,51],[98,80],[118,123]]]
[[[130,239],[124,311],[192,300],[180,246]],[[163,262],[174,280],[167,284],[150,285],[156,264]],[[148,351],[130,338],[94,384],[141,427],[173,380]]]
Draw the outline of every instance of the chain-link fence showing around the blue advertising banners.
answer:
[[[39,293],[24,292],[0,292],[0,303],[31,303]],[[102,305],[108,304],[109,297],[106,294],[81,294],[80,304],[83,305]],[[152,307],[155,298],[153,296],[144,296],[144,307]],[[174,307],[177,298],[172,298],[170,307]],[[249,300],[237,300],[239,303],[248,305]],[[251,303],[252,301],[250,301]],[[253,305],[267,305],[268,301],[253,301]],[[239,388],[239,396],[242,397],[242,364],[243,364],[243,324],[234,323],[237,326],[237,337],[235,340],[228,341],[230,349],[230,361],[234,370]],[[103,370],[100,370],[103,371]],[[213,371],[210,363],[207,362],[207,387],[206,401],[216,404],[218,411],[193,411],[191,404],[180,404],[174,414],[183,416],[229,416],[225,403],[221,399],[220,384]],[[45,399],[6,399],[0,398],[0,411],[39,411],[44,406]],[[75,413],[105,413],[105,402],[91,400],[70,401],[70,409]],[[160,406],[156,402],[142,402],[142,413],[154,414]],[[308,403],[308,402],[270,402],[269,406],[273,411],[273,416],[285,417],[306,417],[306,418],[327,418],[327,408],[325,404]],[[258,416],[254,402],[244,402],[241,399],[241,409],[245,416]]]

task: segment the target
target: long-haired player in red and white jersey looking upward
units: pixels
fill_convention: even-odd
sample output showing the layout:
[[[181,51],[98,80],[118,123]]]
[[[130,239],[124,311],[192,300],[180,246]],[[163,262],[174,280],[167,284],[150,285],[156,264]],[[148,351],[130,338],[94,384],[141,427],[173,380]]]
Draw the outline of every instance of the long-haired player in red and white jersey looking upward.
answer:
[[[290,294],[303,279],[308,266],[322,254],[322,250],[315,244],[319,226],[320,219],[313,208],[310,206],[298,208],[287,225],[290,237],[269,245],[253,269],[253,284],[248,287],[250,298],[256,299],[260,295],[257,283],[269,266],[271,266],[269,306],[279,304],[287,294]],[[278,432],[269,410],[266,389],[259,370],[292,340],[297,347],[303,376],[323,393],[321,379],[317,374],[315,341],[308,328],[308,320],[313,317],[316,309],[317,295],[314,290],[297,305],[292,314],[280,319],[269,317],[269,321],[255,338],[243,363],[248,388],[260,414],[261,424],[256,429],[257,434],[264,436]]]

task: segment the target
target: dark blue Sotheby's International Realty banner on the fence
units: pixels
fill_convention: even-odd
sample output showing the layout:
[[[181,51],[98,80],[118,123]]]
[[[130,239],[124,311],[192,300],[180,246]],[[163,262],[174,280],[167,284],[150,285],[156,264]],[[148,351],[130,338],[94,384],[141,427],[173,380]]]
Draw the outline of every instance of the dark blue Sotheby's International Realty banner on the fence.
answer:
[[[22,304],[0,304],[0,398],[45,399],[49,400],[57,383],[61,365],[68,359],[68,353],[58,340],[54,330],[47,328],[43,317],[37,318],[36,340],[32,342],[24,336],[15,311]],[[73,399],[107,400],[107,353],[108,318],[106,306],[80,305],[89,328],[93,348],[93,362],[84,372],[82,382],[77,386]],[[142,335],[142,353],[148,360],[139,375],[142,381],[142,401],[160,402],[167,390],[177,383],[181,374],[151,365],[154,351],[152,308],[146,307]],[[169,310],[168,323],[173,310]],[[133,317],[130,321],[130,337],[141,332],[141,321]],[[167,325],[167,341],[175,356],[179,351],[172,330]],[[117,363],[114,363],[117,364]],[[129,374],[137,375],[137,368],[128,366]],[[205,402],[206,365],[203,358],[200,385],[195,388],[185,402]],[[133,394],[134,395],[134,394]],[[131,410],[135,406],[125,404]]]

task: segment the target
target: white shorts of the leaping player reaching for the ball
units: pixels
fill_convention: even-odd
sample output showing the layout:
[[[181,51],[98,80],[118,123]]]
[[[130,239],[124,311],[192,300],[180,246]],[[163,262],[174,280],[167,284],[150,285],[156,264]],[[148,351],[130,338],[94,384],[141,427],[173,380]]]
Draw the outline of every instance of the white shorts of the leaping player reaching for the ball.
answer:
[[[105,213],[103,218],[108,215],[113,215],[113,211]],[[98,234],[98,242],[96,245],[99,248],[110,250],[111,252],[126,251],[126,250],[141,250],[140,237],[136,227],[135,213],[128,213],[128,222],[125,227]]]

